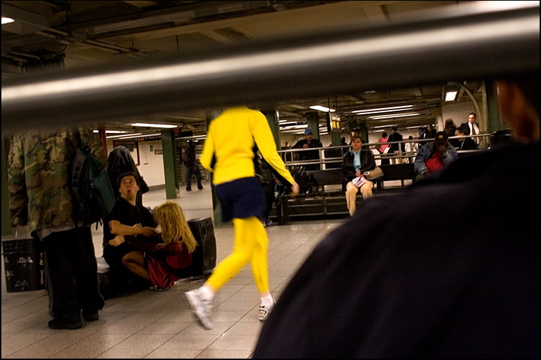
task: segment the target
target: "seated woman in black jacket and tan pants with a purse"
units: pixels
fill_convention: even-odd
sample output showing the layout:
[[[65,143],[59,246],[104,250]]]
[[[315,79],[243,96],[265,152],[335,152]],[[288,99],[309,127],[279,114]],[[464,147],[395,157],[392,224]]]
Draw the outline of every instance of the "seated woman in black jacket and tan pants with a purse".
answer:
[[[373,196],[374,183],[367,180],[363,173],[375,169],[374,153],[370,149],[362,149],[362,138],[353,137],[351,149],[344,154],[342,162],[342,173],[348,181],[346,184],[346,202],[351,216],[357,210],[355,200],[359,190],[364,199]]]

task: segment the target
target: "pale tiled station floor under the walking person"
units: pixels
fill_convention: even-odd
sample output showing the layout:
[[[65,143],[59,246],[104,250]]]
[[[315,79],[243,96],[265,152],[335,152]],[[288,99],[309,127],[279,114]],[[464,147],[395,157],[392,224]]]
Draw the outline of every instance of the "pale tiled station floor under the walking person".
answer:
[[[213,216],[210,184],[204,187],[190,193],[182,189],[175,200],[187,219]],[[165,190],[150,191],[143,201],[155,207],[166,201]],[[298,221],[267,228],[270,287],[277,299],[315,244],[344,221]],[[101,229],[93,235],[96,255],[101,256]],[[233,246],[233,226],[215,227],[215,237],[219,262]],[[200,284],[184,282],[170,290],[114,297],[106,300],[98,321],[78,330],[51,330],[46,290],[7,293],[2,276],[2,358],[250,357],[262,325],[250,266],[217,293],[213,330],[201,328],[183,300],[186,290]]]

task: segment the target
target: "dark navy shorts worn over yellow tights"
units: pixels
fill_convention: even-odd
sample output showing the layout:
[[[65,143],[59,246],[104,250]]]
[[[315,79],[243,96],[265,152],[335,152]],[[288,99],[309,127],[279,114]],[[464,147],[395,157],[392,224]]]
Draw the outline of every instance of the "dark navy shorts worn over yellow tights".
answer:
[[[222,221],[261,218],[265,209],[265,193],[257,177],[242,178],[216,186],[216,195],[222,204]]]

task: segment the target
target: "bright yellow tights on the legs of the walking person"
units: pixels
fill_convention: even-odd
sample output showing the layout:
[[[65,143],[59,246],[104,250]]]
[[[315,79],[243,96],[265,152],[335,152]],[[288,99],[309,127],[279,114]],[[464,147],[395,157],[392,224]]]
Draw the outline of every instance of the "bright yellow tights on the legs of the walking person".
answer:
[[[268,237],[265,228],[255,216],[233,219],[233,226],[235,227],[233,253],[218,264],[206,284],[217,291],[250,262],[257,289],[259,293],[264,293],[268,291]]]

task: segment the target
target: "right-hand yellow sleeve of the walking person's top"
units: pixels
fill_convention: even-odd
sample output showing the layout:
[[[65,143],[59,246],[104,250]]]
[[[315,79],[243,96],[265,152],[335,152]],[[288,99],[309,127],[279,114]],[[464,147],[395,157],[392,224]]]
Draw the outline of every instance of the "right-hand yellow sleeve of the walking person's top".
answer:
[[[291,176],[291,173],[286,168],[284,160],[280,158],[276,150],[273,131],[271,131],[271,127],[269,127],[266,117],[261,113],[259,113],[259,115],[260,116],[257,116],[257,119],[255,120],[253,135],[257,148],[261,151],[261,154],[266,162],[268,162],[268,165],[271,165],[280,176],[293,185],[295,180],[293,180],[293,176]]]

